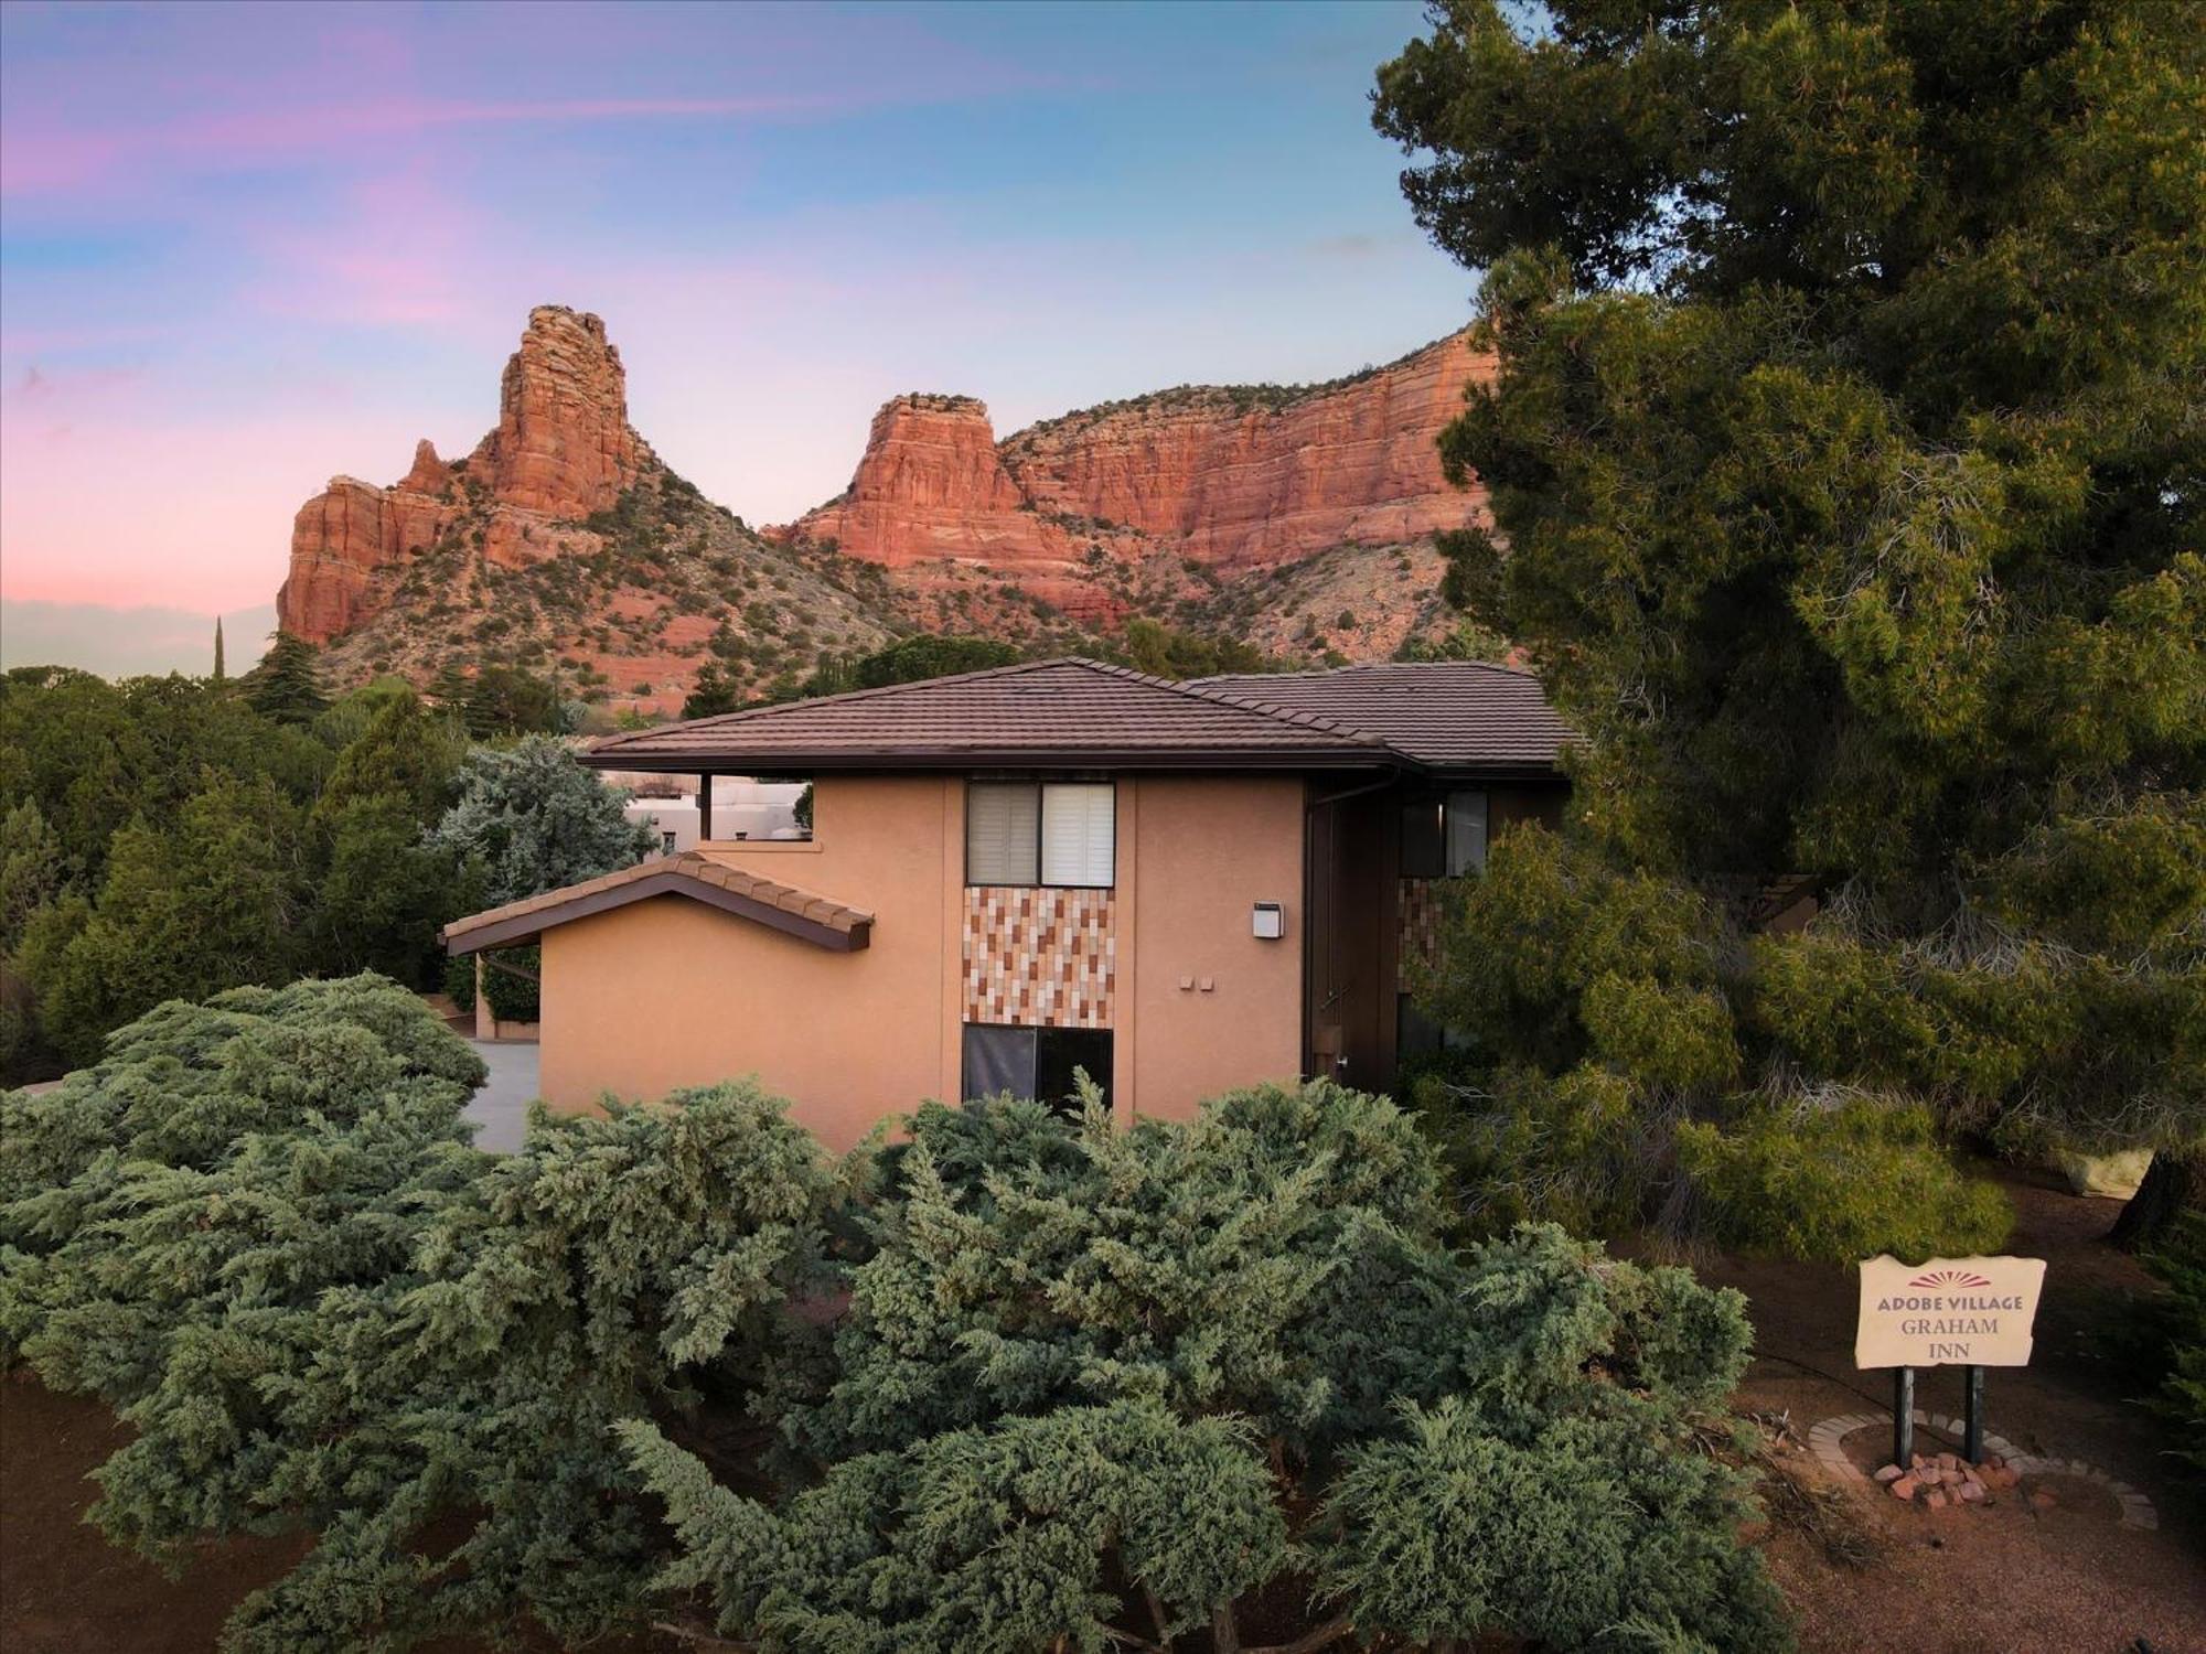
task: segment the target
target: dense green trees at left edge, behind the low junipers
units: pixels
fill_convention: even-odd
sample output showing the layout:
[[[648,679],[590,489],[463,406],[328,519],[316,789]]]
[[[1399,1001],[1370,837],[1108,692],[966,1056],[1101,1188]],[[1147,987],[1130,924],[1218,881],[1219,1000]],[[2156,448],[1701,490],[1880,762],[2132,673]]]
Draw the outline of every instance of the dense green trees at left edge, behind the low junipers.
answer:
[[[439,981],[437,928],[483,904],[470,856],[492,831],[428,840],[465,756],[457,712],[399,679],[276,723],[181,677],[0,675],[0,1074],[86,1063],[168,997],[309,973]],[[574,849],[532,889],[635,853],[613,796],[560,765],[580,785],[494,812],[514,858]]]

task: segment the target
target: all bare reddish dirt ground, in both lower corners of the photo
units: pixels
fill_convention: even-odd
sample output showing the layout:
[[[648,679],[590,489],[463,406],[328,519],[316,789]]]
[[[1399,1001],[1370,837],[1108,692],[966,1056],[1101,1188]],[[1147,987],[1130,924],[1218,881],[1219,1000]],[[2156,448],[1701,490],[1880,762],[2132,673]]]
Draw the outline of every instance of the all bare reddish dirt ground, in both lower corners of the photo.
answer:
[[[1809,1654],[2206,1654],[2206,1524],[2197,1502],[2184,1500],[2180,1471],[2160,1458],[2153,1420],[2129,1403],[2135,1385],[2091,1354],[2105,1343],[2093,1334],[2118,1325],[2149,1281],[2102,1244],[2111,1202],[2071,1197],[2049,1180],[2010,1178],[2010,1189],[2021,1211],[2010,1250],[2045,1257],[2049,1268],[2034,1361],[1990,1374],[1988,1425],[2030,1453],[2080,1458],[2140,1489],[2160,1511],[2160,1531],[2118,1526],[2113,1500],[2074,1478],[2043,1482],[2052,1508],[2012,1493],[1990,1508],[1904,1508],[1868,1486],[1840,1484],[1796,1444],[1780,1453],[1787,1475],[1835,1491],[1822,1497],[1820,1528],[1780,1515],[1763,1548]],[[1853,1370],[1849,1270],[1727,1257],[1699,1268],[1754,1303],[1758,1354],[1743,1409],[1789,1418],[1800,1438],[1822,1418],[1888,1409],[1884,1374]],[[1917,1405],[1957,1414],[1959,1376],[1926,1374]],[[210,1542],[176,1581],[113,1550],[82,1522],[93,1502],[84,1475],[119,1444],[121,1427],[101,1405],[20,1376],[0,1381],[0,1652],[212,1650],[229,1610],[302,1548]],[[1849,1440],[1864,1469],[1884,1447],[1880,1431]],[[1782,1511],[1787,1502],[1774,1495],[1769,1504]],[[684,1645],[668,1639],[664,1647]]]

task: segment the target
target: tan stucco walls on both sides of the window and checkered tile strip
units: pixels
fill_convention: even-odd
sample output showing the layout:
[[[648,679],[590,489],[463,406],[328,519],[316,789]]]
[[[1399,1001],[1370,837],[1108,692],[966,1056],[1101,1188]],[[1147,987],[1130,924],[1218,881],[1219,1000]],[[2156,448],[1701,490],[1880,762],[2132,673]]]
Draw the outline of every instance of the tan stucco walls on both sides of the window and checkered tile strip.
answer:
[[[757,1074],[829,1147],[960,1092],[964,778],[823,778],[810,845],[715,845],[874,913],[871,946],[810,942],[682,898],[543,939],[540,1076],[554,1107]],[[1255,902],[1286,935],[1251,935]],[[1114,1105],[1187,1118],[1302,1061],[1302,783],[1118,781]],[[1180,979],[1189,986],[1180,988]],[[1202,984],[1211,986],[1204,988]]]

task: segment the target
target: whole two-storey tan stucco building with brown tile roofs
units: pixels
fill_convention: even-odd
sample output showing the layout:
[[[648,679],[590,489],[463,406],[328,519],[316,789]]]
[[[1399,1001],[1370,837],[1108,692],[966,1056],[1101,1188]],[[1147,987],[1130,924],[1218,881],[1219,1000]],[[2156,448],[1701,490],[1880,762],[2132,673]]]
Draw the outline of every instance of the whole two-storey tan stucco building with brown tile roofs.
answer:
[[[545,1096],[757,1074],[847,1145],[922,1098],[1127,1118],[1231,1085],[1383,1089],[1421,1030],[1403,962],[1487,836],[1553,818],[1568,730],[1500,666],[1171,684],[1035,662],[600,743],[702,776],[686,853],[452,924],[543,944]],[[812,836],[713,838],[710,778],[810,781]]]

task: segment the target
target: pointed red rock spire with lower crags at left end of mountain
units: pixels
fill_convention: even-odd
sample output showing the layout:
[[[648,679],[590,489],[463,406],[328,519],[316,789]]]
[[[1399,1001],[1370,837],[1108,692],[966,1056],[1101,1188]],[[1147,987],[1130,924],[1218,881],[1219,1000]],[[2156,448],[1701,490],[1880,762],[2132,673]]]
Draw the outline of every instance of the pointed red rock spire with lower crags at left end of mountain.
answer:
[[[604,322],[543,304],[505,364],[499,428],[468,459],[448,465],[421,441],[390,487],[331,476],[300,507],[276,624],[311,642],[351,631],[379,609],[379,569],[470,520],[490,562],[596,549],[598,536],[567,523],[609,507],[646,463],[651,448],[629,426],[627,375]]]

